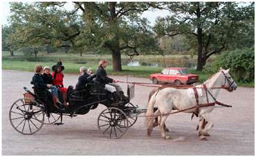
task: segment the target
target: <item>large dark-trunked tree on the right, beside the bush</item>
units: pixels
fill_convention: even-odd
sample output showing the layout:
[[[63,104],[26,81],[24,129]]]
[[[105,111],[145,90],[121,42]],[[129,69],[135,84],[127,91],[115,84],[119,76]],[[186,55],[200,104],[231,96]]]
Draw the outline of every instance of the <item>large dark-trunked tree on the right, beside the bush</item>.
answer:
[[[190,44],[197,46],[198,71],[211,55],[220,53],[244,30],[244,21],[254,21],[254,3],[173,2],[163,6],[172,14],[158,18],[154,31],[160,36],[187,35]]]

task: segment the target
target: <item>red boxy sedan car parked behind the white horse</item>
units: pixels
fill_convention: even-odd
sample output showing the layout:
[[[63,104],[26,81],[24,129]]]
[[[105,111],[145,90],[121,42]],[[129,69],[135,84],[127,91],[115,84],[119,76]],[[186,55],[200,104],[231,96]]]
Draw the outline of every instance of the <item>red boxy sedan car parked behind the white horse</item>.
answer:
[[[199,75],[189,74],[188,68],[164,68],[161,73],[150,75],[153,84],[159,82],[174,84],[192,84],[198,82]]]

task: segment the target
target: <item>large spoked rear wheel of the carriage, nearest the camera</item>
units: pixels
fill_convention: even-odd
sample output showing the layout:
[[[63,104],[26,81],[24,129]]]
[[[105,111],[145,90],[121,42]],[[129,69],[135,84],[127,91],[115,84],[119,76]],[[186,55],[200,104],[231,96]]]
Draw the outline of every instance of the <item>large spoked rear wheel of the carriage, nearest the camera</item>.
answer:
[[[24,135],[32,135],[43,127],[44,110],[35,101],[17,100],[10,107],[9,120],[12,127]]]

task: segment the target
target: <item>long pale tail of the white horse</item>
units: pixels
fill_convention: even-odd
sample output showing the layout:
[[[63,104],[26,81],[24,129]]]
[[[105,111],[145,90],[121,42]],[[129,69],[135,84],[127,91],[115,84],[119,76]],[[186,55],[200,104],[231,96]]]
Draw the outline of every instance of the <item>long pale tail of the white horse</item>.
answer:
[[[152,95],[151,99],[149,100],[145,118],[145,124],[147,127],[147,135],[149,136],[153,129],[153,121],[154,117],[152,116],[154,112],[154,104],[156,103],[156,93]]]

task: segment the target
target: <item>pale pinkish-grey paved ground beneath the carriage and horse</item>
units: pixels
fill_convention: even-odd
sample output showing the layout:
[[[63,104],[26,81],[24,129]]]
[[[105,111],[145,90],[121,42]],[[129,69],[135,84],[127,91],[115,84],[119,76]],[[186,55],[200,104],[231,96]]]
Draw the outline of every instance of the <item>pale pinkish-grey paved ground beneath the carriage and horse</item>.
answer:
[[[13,129],[8,120],[12,102],[22,98],[22,87],[31,88],[33,73],[2,71],[2,154],[3,155],[254,155],[255,154],[255,107],[254,88],[239,87],[228,93],[221,91],[219,101],[232,104],[232,108],[217,108],[211,116],[214,127],[208,141],[197,136],[197,118],[179,113],[167,119],[168,133],[174,140],[161,138],[160,130],[154,129],[148,137],[144,118],[129,128],[118,140],[105,138],[97,128],[97,118],[104,106],[73,119],[64,117],[64,125],[44,125],[32,136],[24,136]],[[113,76],[125,81],[125,77]],[[148,79],[130,78],[134,82]],[[65,75],[65,85],[75,85],[77,75]],[[126,90],[126,85],[121,84]],[[150,88],[136,86],[132,102],[145,107]]]

